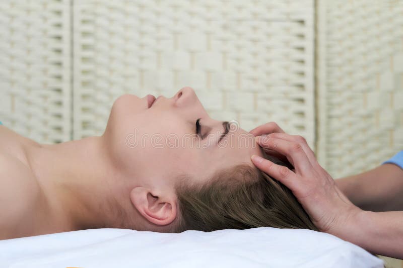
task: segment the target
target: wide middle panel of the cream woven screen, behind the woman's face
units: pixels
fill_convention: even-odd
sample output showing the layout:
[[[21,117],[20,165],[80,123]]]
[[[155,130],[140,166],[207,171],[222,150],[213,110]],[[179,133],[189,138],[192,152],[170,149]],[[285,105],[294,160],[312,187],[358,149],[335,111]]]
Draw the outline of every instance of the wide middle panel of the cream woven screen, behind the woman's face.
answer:
[[[124,93],[195,89],[217,120],[268,121],[314,145],[313,1],[74,2],[74,138]]]

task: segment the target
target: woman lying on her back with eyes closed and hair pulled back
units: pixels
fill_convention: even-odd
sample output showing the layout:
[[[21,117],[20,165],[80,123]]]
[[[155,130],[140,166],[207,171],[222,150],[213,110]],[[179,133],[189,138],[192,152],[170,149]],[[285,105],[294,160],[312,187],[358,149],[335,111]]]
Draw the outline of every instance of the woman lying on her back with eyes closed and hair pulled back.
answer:
[[[46,145],[0,126],[0,239],[88,228],[316,230],[252,154],[268,158],[252,134],[210,118],[190,87],[119,97],[99,137]]]

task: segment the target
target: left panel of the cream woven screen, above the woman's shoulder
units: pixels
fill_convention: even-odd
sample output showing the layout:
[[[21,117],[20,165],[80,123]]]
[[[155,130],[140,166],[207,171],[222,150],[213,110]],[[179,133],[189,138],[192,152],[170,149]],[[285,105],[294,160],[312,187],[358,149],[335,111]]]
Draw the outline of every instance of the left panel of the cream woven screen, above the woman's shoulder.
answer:
[[[70,1],[0,2],[0,120],[41,143],[71,139]]]

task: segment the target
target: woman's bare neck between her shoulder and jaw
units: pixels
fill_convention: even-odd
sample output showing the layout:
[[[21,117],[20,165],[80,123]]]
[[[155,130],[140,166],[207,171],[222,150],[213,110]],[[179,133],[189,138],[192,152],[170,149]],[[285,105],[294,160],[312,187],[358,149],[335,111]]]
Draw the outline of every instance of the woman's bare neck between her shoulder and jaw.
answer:
[[[117,212],[122,212],[124,180],[119,180],[102,136],[43,144],[27,155],[49,206],[47,222],[63,231],[123,228]]]

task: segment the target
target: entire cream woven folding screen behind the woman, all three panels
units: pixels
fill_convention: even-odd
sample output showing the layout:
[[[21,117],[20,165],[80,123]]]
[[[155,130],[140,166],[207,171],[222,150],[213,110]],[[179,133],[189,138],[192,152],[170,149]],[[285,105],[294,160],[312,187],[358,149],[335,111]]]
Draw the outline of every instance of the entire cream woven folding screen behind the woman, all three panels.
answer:
[[[0,121],[79,139],[121,94],[191,86],[217,120],[305,136],[335,177],[368,169],[403,148],[403,2],[316,3],[2,1]]]

